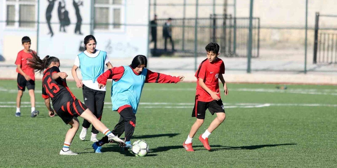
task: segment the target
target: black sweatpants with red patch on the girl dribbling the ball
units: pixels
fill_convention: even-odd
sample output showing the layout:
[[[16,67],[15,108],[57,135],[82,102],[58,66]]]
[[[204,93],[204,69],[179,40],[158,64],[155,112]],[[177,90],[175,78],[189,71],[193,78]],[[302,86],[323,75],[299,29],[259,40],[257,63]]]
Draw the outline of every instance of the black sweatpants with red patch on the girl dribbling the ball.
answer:
[[[136,126],[136,116],[130,107],[123,109],[119,115],[119,121],[112,133],[120,137],[125,131],[125,141],[129,141],[133,135],[134,127]]]

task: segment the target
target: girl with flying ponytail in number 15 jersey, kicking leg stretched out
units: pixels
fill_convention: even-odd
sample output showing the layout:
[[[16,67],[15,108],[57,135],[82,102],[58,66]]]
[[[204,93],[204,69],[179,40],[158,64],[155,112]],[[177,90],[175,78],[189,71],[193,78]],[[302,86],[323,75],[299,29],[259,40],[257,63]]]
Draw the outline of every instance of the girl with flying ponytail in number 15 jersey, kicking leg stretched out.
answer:
[[[27,65],[33,68],[35,72],[43,74],[42,97],[49,111],[49,116],[54,117],[54,112],[56,112],[65,124],[71,126],[65,136],[60,155],[77,155],[69,150],[69,146],[79,129],[80,123],[77,119],[79,116],[91,122],[98,131],[108,136],[109,142],[125,146],[123,140],[111,133],[111,131],[92,114],[87,106],[71,93],[66,82],[68,75],[65,72],[60,72],[60,60],[57,57],[47,55],[43,59],[40,59],[37,53],[31,52],[31,54],[33,57],[27,59]],[[54,110],[50,106],[50,98],[52,99]]]

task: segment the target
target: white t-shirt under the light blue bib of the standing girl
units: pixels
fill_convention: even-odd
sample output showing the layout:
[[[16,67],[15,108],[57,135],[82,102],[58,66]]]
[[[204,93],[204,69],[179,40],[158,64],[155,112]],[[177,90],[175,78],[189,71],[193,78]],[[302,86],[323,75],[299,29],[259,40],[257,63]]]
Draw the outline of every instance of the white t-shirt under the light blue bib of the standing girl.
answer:
[[[88,56],[88,57],[91,57],[91,58],[94,58],[96,56],[98,56],[99,54],[99,50],[96,50],[95,53],[93,54],[90,54],[87,50],[84,51],[84,53]],[[108,55],[105,57],[105,60],[104,60],[104,65],[105,66],[106,64],[108,64],[109,62],[109,58],[108,58]],[[77,66],[77,67],[80,67],[80,58],[78,55],[76,55],[76,58],[75,58],[75,62],[74,62],[74,65]],[[94,89],[94,90],[100,90],[100,91],[106,91],[106,88],[105,86],[101,89],[98,88],[98,82],[96,80],[95,83],[92,82],[92,80],[83,80],[82,83],[87,86],[88,88],[90,89]]]

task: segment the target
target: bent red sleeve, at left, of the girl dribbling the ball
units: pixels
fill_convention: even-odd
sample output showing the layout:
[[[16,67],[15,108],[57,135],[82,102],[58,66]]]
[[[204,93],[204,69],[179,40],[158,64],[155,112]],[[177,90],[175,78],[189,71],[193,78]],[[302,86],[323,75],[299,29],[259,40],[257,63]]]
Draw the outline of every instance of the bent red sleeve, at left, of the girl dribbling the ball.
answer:
[[[120,80],[124,74],[124,67],[114,67],[105,71],[102,75],[97,78],[97,82],[106,85],[108,79]]]

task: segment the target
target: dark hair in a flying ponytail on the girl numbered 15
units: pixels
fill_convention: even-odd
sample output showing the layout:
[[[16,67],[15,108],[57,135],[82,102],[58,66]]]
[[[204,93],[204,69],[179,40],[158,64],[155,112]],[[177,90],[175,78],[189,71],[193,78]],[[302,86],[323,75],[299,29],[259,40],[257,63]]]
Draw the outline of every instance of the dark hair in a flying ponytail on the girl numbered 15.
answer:
[[[29,53],[33,56],[27,59],[27,65],[34,69],[34,72],[43,73],[43,70],[48,68],[52,62],[60,62],[59,58],[55,56],[45,56],[43,59],[37,55],[35,51],[30,50]]]

